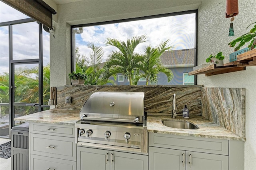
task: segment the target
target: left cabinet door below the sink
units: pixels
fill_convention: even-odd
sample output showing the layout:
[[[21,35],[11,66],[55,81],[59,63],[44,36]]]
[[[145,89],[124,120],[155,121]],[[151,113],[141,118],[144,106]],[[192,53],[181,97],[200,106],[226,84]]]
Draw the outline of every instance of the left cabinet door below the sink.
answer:
[[[186,151],[149,147],[150,170],[185,170]]]

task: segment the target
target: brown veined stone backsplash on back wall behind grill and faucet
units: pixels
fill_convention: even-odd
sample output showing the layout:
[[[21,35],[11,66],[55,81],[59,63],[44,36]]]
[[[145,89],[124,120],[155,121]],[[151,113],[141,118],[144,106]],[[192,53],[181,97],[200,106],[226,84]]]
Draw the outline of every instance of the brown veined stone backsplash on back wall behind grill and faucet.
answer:
[[[177,113],[188,105],[190,114],[201,114],[201,86],[66,86],[57,88],[58,108],[82,108],[91,94],[98,91],[145,92],[146,112],[172,112],[172,94],[176,94]],[[65,97],[71,96],[72,103],[65,104]]]

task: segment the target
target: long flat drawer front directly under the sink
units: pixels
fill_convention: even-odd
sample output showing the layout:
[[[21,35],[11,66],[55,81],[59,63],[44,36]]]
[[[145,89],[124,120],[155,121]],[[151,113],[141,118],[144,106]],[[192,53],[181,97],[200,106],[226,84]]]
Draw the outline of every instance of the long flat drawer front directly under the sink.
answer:
[[[149,133],[149,146],[228,155],[228,140]]]

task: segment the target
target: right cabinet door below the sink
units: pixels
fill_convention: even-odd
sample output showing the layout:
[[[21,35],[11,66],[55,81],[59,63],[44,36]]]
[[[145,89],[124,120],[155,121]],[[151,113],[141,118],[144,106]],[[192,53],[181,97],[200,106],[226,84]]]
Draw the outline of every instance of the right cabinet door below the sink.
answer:
[[[187,170],[228,170],[228,156],[186,152]]]

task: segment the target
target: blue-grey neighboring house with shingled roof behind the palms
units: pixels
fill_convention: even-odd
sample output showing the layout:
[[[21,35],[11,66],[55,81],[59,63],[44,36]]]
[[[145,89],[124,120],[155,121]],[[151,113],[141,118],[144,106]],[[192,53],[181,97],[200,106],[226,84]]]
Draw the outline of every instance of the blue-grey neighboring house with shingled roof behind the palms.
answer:
[[[158,74],[158,85],[194,85],[194,76],[188,76],[188,72],[194,67],[194,48],[186,50],[166,51],[160,60],[162,65],[169,68],[173,73],[173,79],[168,82],[164,73]],[[114,80],[113,77],[110,79]],[[121,73],[114,80],[116,85],[129,85],[129,81]],[[138,85],[146,85],[146,79],[141,78]]]

